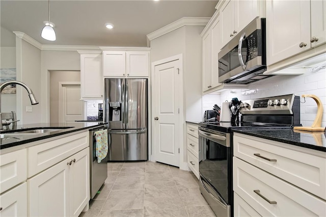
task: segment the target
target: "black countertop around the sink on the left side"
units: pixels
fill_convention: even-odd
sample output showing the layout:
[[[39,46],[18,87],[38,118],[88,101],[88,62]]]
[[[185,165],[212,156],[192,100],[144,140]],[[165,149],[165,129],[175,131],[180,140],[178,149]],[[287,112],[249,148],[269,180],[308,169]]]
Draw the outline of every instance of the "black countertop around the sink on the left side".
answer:
[[[19,134],[17,133],[15,137],[9,137],[9,138],[1,138],[0,139],[0,149],[10,148],[26,143],[31,143],[39,140],[44,140],[52,137],[57,137],[59,135],[76,132],[80,130],[85,129],[92,129],[97,126],[104,126],[106,123],[97,123],[97,122],[72,122],[72,123],[40,123],[40,124],[24,124],[24,125],[17,125],[15,131],[19,130],[26,130],[26,129],[49,129],[49,128],[57,128],[56,131],[51,132],[43,132],[43,133],[25,133],[25,134]],[[69,127],[66,128],[65,127]],[[1,132],[1,134],[12,132],[13,130],[4,130]],[[15,134],[15,133],[12,133]]]

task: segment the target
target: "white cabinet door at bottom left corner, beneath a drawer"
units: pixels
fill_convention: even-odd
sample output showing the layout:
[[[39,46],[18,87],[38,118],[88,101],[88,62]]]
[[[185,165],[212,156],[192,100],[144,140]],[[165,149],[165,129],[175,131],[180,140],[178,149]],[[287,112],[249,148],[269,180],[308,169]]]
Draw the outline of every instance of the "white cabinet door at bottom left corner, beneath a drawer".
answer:
[[[0,216],[27,216],[26,182],[0,196]]]

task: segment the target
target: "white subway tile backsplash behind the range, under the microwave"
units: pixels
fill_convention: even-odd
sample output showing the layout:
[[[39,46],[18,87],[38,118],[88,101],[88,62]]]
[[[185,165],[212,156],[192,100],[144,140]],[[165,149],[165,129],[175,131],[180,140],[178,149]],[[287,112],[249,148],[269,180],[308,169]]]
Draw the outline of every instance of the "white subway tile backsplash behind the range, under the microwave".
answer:
[[[318,64],[320,65],[320,64]],[[250,84],[250,90],[255,90],[256,93],[242,95],[241,90],[224,91],[221,93],[221,101],[238,97],[239,100],[256,99],[268,96],[277,96],[285,94],[314,94],[318,96],[323,104],[323,116],[321,126],[326,126],[326,69],[320,69],[317,72],[307,72],[302,75],[290,76],[279,75],[271,78],[266,78],[260,82]],[[301,98],[303,102],[304,99]],[[317,113],[317,104],[312,98],[306,98],[306,103],[301,103],[301,124],[303,126],[311,126]]]

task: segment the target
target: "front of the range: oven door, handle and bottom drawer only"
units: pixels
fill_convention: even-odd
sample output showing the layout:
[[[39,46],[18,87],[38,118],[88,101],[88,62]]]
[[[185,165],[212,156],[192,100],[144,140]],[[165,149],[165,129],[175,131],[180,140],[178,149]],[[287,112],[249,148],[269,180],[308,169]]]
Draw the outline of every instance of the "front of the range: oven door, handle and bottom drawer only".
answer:
[[[230,133],[199,127],[198,134],[200,191],[215,214],[232,216]]]

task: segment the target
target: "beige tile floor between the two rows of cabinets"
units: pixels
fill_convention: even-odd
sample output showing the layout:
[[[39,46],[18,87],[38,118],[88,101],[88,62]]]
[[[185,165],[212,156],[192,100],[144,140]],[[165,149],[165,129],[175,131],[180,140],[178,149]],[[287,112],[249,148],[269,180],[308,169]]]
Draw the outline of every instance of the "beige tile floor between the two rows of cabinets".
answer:
[[[109,162],[100,193],[82,216],[215,216],[197,177],[159,162]]]

